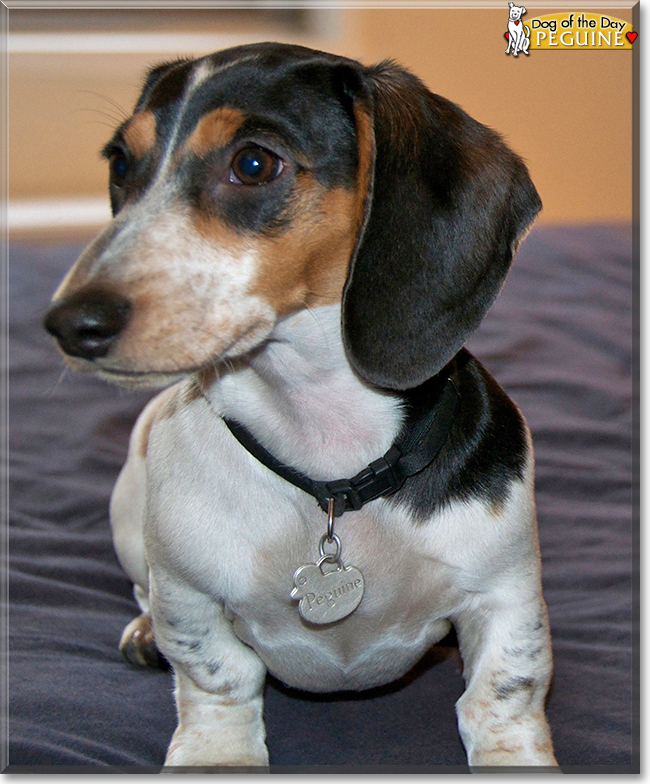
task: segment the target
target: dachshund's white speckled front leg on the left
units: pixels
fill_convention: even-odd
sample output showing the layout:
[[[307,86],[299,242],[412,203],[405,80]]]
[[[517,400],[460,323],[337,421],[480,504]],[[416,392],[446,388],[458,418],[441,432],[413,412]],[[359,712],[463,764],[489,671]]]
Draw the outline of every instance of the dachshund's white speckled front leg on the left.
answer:
[[[151,589],[156,643],[176,683],[178,727],[165,766],[263,771],[264,664],[235,636],[213,598],[154,570]]]

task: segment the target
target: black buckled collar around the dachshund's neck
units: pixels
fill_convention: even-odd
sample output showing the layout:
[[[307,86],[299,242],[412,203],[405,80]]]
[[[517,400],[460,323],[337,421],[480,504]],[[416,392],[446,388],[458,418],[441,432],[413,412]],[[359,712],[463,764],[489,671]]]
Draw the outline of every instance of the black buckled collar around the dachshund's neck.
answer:
[[[445,379],[446,375],[446,379]],[[438,394],[424,410],[407,416],[405,426],[397,441],[383,457],[374,460],[352,479],[335,479],[317,482],[296,468],[281,463],[268,452],[243,425],[223,418],[239,443],[253,457],[271,471],[313,495],[327,512],[330,498],[334,499],[334,516],[361,507],[380,496],[399,490],[408,477],[426,468],[442,449],[460,400],[457,384],[456,362],[452,361],[440,374],[442,386],[436,385]],[[441,380],[442,380],[441,379]]]

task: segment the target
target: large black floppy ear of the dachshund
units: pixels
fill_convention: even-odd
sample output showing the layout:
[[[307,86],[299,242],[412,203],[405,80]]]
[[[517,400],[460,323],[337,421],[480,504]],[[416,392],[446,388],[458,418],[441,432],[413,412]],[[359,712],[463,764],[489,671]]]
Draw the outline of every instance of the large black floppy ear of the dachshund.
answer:
[[[343,293],[357,372],[389,389],[435,375],[478,327],[541,202],[499,136],[408,71],[364,71],[354,114],[365,215]]]

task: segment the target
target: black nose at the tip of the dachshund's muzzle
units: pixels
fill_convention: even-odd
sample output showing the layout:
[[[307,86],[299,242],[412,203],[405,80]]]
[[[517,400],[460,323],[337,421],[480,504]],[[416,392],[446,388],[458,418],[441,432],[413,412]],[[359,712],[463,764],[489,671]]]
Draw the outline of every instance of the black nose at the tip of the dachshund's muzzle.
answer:
[[[72,357],[96,359],[108,354],[131,314],[131,303],[111,292],[79,292],[57,302],[45,315],[45,329]]]

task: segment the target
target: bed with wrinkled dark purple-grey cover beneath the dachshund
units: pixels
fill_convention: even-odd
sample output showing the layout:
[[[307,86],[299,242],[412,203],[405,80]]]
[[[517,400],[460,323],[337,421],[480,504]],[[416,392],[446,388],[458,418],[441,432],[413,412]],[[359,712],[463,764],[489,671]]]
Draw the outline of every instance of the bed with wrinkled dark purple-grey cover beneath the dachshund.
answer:
[[[566,772],[639,771],[638,557],[628,225],[541,226],[469,348],[531,426]],[[175,726],[169,672],[117,649],[137,612],[108,499],[149,394],[64,370],[40,321],[80,246],[9,249],[9,767],[158,772]],[[272,772],[467,772],[453,635],[402,681],[314,696],[269,678]]]

